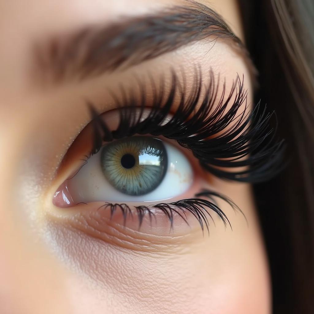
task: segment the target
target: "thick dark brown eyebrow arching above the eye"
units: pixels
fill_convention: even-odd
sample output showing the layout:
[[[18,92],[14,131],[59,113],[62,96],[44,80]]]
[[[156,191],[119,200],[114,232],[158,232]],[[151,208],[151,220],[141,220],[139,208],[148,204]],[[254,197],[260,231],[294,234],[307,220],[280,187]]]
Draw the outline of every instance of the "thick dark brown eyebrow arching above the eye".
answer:
[[[86,26],[73,34],[52,36],[34,46],[32,74],[40,82],[82,80],[209,37],[210,41],[231,39],[231,46],[251,62],[244,44],[219,14],[198,2],[187,3],[153,15],[121,18],[109,25]]]

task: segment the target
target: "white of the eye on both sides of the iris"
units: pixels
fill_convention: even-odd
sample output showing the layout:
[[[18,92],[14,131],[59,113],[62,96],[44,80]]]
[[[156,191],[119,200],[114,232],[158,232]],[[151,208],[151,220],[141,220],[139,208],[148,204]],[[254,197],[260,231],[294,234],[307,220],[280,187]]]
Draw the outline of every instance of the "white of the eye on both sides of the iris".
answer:
[[[168,156],[168,166],[163,180],[151,192],[132,196],[116,190],[101,169],[101,149],[89,158],[80,171],[67,182],[75,203],[155,202],[180,196],[193,182],[192,166],[187,157],[175,146],[163,141]]]

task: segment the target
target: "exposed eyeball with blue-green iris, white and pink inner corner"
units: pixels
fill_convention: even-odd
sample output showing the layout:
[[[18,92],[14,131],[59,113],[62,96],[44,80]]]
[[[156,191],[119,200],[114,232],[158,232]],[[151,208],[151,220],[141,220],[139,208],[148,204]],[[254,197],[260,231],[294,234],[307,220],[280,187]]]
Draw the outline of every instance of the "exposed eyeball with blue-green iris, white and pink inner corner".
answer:
[[[160,138],[132,136],[106,143],[58,187],[53,203],[65,208],[159,202],[180,196],[193,181],[192,166],[181,149]]]

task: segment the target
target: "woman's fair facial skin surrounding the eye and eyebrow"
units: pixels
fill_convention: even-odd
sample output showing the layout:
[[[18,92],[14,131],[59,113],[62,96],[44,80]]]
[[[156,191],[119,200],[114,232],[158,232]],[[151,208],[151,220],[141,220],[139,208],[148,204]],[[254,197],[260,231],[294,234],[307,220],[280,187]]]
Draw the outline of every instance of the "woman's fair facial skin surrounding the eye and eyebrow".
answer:
[[[90,120],[82,98],[92,99],[100,112],[114,109],[104,86],[117,90],[122,82],[132,88],[134,74],[145,77],[156,69],[153,75],[158,78],[170,67],[183,67],[191,85],[192,64],[199,64],[204,71],[212,68],[215,78],[225,78],[227,90],[236,73],[243,73],[252,102],[249,69],[222,40],[210,50],[198,42],[80,83],[41,88],[29,80],[29,44],[35,38],[178,3],[0,2],[2,313],[270,313],[268,266],[250,185],[203,175],[187,152],[202,187],[230,197],[248,224],[223,201],[219,206],[233,229],[225,229],[214,216],[210,236],[203,236],[197,223],[187,228],[179,220],[172,233],[166,221],[152,229],[144,224],[138,231],[133,225],[123,228],[119,217],[109,221],[106,214],[93,224],[89,213],[97,204],[71,211],[52,203],[54,192],[77,169],[78,156],[86,150],[84,143],[72,147],[72,157],[59,167]],[[236,1],[202,3],[221,14],[243,40]],[[184,197],[193,194],[187,191]]]

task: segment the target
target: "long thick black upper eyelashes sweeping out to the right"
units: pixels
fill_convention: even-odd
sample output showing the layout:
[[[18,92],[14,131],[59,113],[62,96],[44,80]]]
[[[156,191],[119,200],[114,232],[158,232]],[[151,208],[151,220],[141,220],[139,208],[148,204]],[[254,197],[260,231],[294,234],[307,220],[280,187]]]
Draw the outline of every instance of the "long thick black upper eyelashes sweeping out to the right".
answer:
[[[244,77],[241,79],[238,76],[227,97],[223,83],[219,97],[219,84],[215,84],[212,72],[209,73],[209,83],[204,86],[200,71],[195,70],[194,84],[189,93],[186,92],[185,80],[181,84],[174,72],[167,93],[162,80],[157,89],[151,79],[152,107],[145,118],[143,113],[148,106],[145,84],[138,81],[139,98],[135,97],[133,90],[126,92],[121,87],[121,99],[113,95],[116,107],[120,108],[120,122],[116,130],[110,131],[89,104],[95,131],[91,154],[97,153],[104,141],[134,134],[162,135],[191,150],[203,169],[219,178],[244,182],[266,181],[283,168],[284,145],[283,141],[274,140],[273,129],[268,130],[272,114],[266,113],[266,107],[260,110],[258,103],[247,112],[247,91],[243,82]],[[177,108],[173,108],[174,103],[179,104]],[[241,105],[244,110],[239,112]],[[136,110],[139,111],[138,116]],[[167,121],[172,111],[175,112]],[[239,171],[228,170],[240,167]]]

